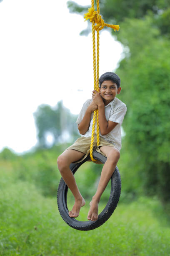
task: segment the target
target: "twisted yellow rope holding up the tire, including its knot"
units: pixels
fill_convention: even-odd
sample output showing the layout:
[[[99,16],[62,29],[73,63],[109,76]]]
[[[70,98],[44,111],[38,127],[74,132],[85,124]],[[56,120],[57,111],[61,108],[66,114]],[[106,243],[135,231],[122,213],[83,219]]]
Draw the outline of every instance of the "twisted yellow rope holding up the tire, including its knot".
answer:
[[[93,74],[94,74],[94,89],[99,92],[99,31],[105,26],[113,28],[114,31],[119,31],[119,25],[110,25],[104,22],[100,15],[99,0],[96,2],[97,11],[94,8],[94,0],[92,0],[92,7],[88,9],[88,13],[85,14],[85,20],[90,19],[92,23],[92,51],[93,51]],[[96,50],[95,50],[95,31],[97,31],[97,61],[96,61]],[[100,131],[99,131],[99,120],[98,120],[98,109],[94,111],[93,123],[92,123],[92,138],[90,144],[90,158],[92,161],[96,161],[92,156],[94,136],[95,136],[95,124],[96,124],[96,136],[97,146],[100,145]]]

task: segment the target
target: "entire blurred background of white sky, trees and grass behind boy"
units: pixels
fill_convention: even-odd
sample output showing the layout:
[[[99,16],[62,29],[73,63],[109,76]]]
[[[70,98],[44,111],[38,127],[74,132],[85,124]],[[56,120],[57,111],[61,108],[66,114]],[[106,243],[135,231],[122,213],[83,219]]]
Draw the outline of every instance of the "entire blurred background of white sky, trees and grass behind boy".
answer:
[[[170,255],[170,1],[100,0],[100,75],[116,72],[127,105],[119,204],[96,230],[57,210],[57,156],[79,137],[93,90],[91,1],[0,0],[0,255]],[[75,174],[86,220],[102,165]],[[101,211],[110,195],[108,184]],[[73,198],[68,193],[68,207]],[[86,245],[86,246],[85,246]]]

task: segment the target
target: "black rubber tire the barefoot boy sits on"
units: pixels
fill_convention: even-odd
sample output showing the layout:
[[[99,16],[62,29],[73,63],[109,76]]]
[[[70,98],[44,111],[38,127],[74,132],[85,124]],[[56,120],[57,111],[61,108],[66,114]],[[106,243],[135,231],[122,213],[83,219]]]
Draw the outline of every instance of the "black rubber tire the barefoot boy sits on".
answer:
[[[105,156],[103,156],[97,151],[93,151],[93,157],[96,160],[100,160],[103,164],[107,159]],[[70,169],[72,170],[72,173],[75,174],[77,169],[89,159],[90,159],[90,156],[87,156],[87,158],[84,159],[81,163],[70,164]],[[67,191],[68,191],[68,187],[65,184],[64,180],[61,178],[60,184],[58,186],[58,191],[57,191],[57,205],[58,205],[58,210],[60,212],[62,219],[70,227],[75,228],[77,230],[92,230],[92,229],[98,228],[100,225],[105,223],[105,221],[108,220],[108,218],[110,218],[119,201],[120,192],[121,192],[121,179],[120,179],[119,170],[116,166],[115,171],[111,177],[111,191],[110,191],[109,200],[105,208],[98,215],[98,219],[96,221],[91,221],[91,220],[79,221],[79,220],[76,220],[75,218],[69,217],[68,208],[67,208]]]

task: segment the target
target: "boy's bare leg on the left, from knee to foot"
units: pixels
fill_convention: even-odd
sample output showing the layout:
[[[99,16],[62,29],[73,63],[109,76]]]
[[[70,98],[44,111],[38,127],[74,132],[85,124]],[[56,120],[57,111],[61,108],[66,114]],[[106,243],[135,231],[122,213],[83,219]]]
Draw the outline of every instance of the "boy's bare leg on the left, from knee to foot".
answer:
[[[69,216],[73,218],[78,217],[80,207],[85,205],[85,200],[80,194],[80,191],[77,187],[75,177],[72,174],[72,171],[70,170],[70,164],[72,162],[78,161],[84,155],[85,154],[80,151],[67,149],[57,159],[58,169],[62,175],[62,178],[64,179],[65,183],[67,184],[67,186],[69,187],[69,189],[75,197],[75,204],[72,210],[69,211]]]

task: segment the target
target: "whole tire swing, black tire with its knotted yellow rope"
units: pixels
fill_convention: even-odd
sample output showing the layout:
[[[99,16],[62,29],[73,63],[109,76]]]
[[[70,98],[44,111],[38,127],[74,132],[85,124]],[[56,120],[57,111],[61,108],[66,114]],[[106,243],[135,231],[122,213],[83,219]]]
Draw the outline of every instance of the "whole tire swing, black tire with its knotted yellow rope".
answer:
[[[92,22],[92,43],[93,43],[93,71],[94,71],[94,90],[99,92],[99,31],[104,28],[105,26],[113,28],[115,31],[119,30],[118,25],[110,25],[104,22],[100,15],[100,6],[99,0],[97,0],[97,11],[94,9],[94,0],[92,0],[92,7],[89,8],[88,13],[85,14],[85,20],[90,19]],[[95,25],[96,24],[96,25]],[[97,61],[96,61],[96,53],[95,53],[95,31],[97,31]],[[97,70],[96,70],[97,69]],[[80,163],[72,163],[70,164],[70,169],[73,174],[77,171],[77,169],[84,164],[88,160],[96,161],[99,160],[103,164],[107,158],[100,154],[97,151],[93,151],[93,142],[95,136],[95,125],[96,125],[96,135],[97,135],[97,146],[100,145],[100,133],[99,133],[99,122],[98,122],[98,109],[94,111],[93,115],[93,124],[92,124],[92,138],[91,138],[91,145],[90,145],[90,154]],[[68,215],[68,208],[67,208],[67,192],[68,187],[65,184],[64,180],[61,178],[60,184],[57,191],[57,205],[58,210],[62,219],[67,223],[70,227],[75,228],[77,230],[92,230],[98,228],[100,225],[105,223],[108,218],[114,212],[117,203],[120,198],[121,192],[121,179],[120,173],[116,166],[112,177],[111,177],[111,191],[110,197],[107,202],[107,205],[102,210],[102,212],[98,215],[98,219],[96,221],[79,221],[75,218],[70,218]]]

